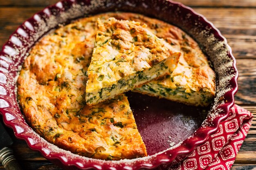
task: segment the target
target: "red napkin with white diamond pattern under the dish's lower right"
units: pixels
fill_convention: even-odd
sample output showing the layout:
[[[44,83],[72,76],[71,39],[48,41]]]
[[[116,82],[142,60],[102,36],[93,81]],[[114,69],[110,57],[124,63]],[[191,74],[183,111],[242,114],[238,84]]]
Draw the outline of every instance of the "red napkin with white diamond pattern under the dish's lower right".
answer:
[[[234,105],[207,142],[168,170],[230,170],[251,126],[252,113]]]

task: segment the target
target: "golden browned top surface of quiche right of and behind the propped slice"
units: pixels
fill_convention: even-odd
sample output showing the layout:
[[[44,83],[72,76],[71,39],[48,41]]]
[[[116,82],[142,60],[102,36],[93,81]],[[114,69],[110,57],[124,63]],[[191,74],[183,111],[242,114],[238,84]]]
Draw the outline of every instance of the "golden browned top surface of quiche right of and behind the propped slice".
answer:
[[[181,52],[180,62],[171,74],[174,82],[171,79],[165,79],[163,82],[157,81],[158,83],[168,84],[172,88],[182,87],[193,91],[206,89],[214,97],[216,91],[215,73],[197,42],[184,31],[166,22],[143,15],[116,13],[112,16],[119,20],[134,20],[148,25],[147,29],[157,37],[164,38],[173,48]]]

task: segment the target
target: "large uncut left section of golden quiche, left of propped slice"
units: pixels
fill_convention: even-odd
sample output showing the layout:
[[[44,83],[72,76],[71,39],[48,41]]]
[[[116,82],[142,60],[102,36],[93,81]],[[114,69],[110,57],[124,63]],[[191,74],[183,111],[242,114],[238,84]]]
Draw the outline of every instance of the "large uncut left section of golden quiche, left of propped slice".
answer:
[[[65,150],[105,160],[147,156],[124,94],[85,102],[98,17],[62,26],[33,47],[18,77],[20,108],[40,136]]]

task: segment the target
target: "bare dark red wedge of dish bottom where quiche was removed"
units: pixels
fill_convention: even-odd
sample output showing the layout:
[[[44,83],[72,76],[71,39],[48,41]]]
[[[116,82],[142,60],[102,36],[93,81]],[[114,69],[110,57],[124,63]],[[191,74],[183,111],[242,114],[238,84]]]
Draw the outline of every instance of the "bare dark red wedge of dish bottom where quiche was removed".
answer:
[[[126,95],[148,155],[187,139],[200,127],[209,110],[139,93]]]

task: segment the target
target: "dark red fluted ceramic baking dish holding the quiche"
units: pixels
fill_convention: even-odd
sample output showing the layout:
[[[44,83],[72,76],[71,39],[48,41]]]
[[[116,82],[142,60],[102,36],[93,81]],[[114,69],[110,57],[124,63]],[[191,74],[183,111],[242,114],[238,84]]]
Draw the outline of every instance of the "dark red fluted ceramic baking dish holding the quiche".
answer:
[[[49,144],[26,123],[16,99],[16,79],[31,46],[49,30],[77,18],[109,11],[141,13],[180,27],[200,44],[216,72],[216,97],[209,108],[194,108],[165,100],[128,93],[138,129],[145,141],[148,157],[132,160],[103,161],[75,155]],[[216,132],[234,105],[238,72],[227,44],[211,22],[193,9],[171,0],[64,0],[26,20],[10,36],[0,52],[0,113],[4,123],[13,128],[18,139],[27,142],[49,161],[64,169],[138,170],[165,169],[188,156]],[[134,102],[143,98],[145,103]],[[168,105],[168,106],[167,106]],[[148,106],[148,105],[147,105]],[[166,111],[172,108],[172,112]],[[156,110],[157,108],[157,110]],[[206,111],[205,111],[206,110]],[[204,115],[207,112],[208,114]],[[200,116],[198,116],[200,115]],[[200,119],[198,117],[203,117]],[[189,118],[189,119],[184,119]],[[181,121],[179,121],[181,120]],[[146,123],[145,123],[146,121]],[[173,135],[173,147],[164,137]],[[175,140],[176,139],[176,140]],[[167,144],[167,145],[166,145]]]

